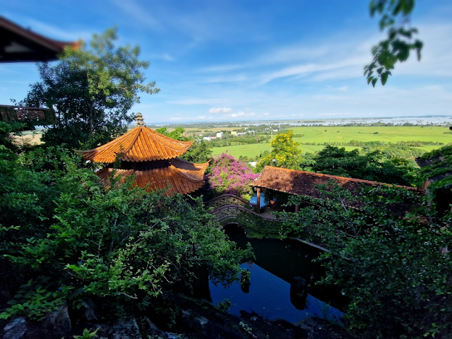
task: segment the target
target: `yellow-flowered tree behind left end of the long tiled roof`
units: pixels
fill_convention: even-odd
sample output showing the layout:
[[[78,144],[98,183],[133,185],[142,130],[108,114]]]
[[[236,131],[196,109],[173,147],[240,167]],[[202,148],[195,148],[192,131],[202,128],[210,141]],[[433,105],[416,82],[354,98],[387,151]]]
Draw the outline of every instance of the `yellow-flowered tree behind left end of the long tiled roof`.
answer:
[[[293,141],[293,131],[279,133],[271,141],[271,151],[263,155],[256,164],[256,169],[261,172],[265,166],[275,166],[290,169],[299,169],[300,155],[302,150],[298,148],[299,143]]]

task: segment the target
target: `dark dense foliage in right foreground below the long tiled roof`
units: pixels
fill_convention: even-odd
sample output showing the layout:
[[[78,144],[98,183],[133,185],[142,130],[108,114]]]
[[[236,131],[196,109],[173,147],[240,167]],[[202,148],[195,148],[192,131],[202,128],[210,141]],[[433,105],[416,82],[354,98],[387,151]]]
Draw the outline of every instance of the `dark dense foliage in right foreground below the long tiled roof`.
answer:
[[[436,220],[419,196],[403,189],[352,194],[331,184],[319,191],[321,198],[292,198],[304,208],[283,213],[281,235],[311,234],[331,249],[321,258],[325,280],[350,299],[345,323],[357,338],[450,338],[447,217]],[[356,203],[359,210],[350,207]],[[409,210],[404,218],[395,215],[400,208]]]

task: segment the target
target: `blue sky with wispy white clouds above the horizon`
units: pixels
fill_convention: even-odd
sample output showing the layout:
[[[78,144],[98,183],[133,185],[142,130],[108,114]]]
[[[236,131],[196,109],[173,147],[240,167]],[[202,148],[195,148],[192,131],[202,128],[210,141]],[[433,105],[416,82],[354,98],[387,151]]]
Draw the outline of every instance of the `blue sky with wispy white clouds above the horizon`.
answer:
[[[417,1],[424,42],[371,88],[362,75],[381,40],[367,0],[0,0],[0,15],[55,40],[117,25],[118,44],[150,61],[133,112],[148,124],[452,115],[452,2]],[[39,81],[35,64],[0,64],[0,102]]]

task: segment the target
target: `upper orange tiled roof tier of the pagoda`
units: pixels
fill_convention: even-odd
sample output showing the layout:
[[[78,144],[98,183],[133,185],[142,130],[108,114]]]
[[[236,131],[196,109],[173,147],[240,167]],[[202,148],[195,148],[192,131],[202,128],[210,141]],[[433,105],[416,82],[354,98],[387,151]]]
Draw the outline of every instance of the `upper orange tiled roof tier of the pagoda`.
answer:
[[[131,162],[167,160],[183,155],[193,141],[178,141],[164,136],[145,126],[136,126],[131,131],[105,145],[84,150],[83,159],[112,163],[123,153],[121,160]]]

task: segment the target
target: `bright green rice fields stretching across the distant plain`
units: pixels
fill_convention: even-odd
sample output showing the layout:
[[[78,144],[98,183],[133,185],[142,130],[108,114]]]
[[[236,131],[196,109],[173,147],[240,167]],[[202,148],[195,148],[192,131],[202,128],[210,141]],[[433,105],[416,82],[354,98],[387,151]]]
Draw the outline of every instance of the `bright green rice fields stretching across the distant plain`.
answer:
[[[292,128],[294,134],[304,134],[301,138],[294,138],[300,143],[304,153],[314,153],[322,150],[324,145],[306,145],[305,143],[348,143],[355,141],[384,141],[396,143],[398,141],[434,141],[439,143],[452,143],[452,134],[446,134],[448,127],[439,126],[307,126]],[[353,150],[356,147],[345,147]],[[423,152],[429,152],[441,145],[424,145],[418,147]],[[212,148],[213,156],[226,152],[239,157],[256,157],[264,150],[270,150],[270,143],[256,143],[252,145],[234,145]]]

